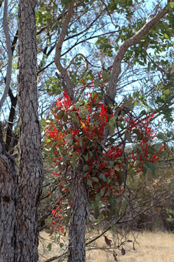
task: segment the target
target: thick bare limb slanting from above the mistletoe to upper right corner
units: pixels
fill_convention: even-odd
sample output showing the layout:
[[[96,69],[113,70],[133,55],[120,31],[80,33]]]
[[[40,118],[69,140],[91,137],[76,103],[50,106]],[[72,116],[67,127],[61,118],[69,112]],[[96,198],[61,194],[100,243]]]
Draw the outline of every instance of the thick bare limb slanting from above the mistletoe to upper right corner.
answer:
[[[129,40],[125,40],[121,46],[119,47],[119,50],[116,53],[116,56],[114,57],[114,62],[112,65],[112,73],[111,73],[111,80],[109,82],[109,86],[107,88],[107,91],[105,93],[105,104],[112,104],[115,96],[116,96],[116,84],[119,79],[119,75],[121,73],[121,62],[123,60],[123,57],[125,56],[125,53],[129,47],[132,45],[135,45],[138,43],[138,40],[142,38],[153,25],[156,25],[162,17],[164,17],[169,12],[169,6],[166,5],[165,8],[163,8],[156,16],[154,16],[151,20],[147,21],[145,25],[136,33],[132,38],[129,38]]]

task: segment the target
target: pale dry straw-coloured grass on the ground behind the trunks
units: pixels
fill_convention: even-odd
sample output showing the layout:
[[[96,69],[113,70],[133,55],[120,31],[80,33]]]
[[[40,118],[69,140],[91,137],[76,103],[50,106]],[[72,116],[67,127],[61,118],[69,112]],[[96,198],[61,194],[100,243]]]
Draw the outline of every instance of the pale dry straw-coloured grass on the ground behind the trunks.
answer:
[[[44,262],[50,257],[61,254],[60,247],[55,243],[53,243],[51,251],[47,250],[48,244],[51,243],[51,239],[47,233],[42,232],[40,236],[43,239],[40,239],[38,250],[45,258],[40,256],[39,262]],[[111,233],[107,236],[112,239]],[[129,239],[134,240],[131,236],[129,236]],[[138,235],[137,241],[140,246],[135,243],[136,250],[133,250],[132,243],[126,243],[123,246],[126,250],[124,256],[119,250],[116,251],[119,262],[174,262],[174,233],[144,232]],[[98,239],[95,246],[98,248],[107,248],[103,237]],[[90,250],[86,252],[86,262],[112,262],[114,261],[112,252],[112,249],[108,250],[108,252],[99,249]]]

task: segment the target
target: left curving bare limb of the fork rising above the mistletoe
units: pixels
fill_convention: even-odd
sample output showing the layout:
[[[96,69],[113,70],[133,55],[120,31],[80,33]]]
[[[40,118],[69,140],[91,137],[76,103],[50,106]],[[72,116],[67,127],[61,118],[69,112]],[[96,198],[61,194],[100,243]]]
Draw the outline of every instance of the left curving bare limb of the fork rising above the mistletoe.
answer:
[[[73,15],[73,3],[71,3],[71,5],[69,5],[69,10],[66,14],[66,18],[65,18],[64,23],[62,25],[62,32],[60,33],[60,37],[58,39],[58,43],[57,43],[56,48],[55,48],[55,60],[54,60],[54,62],[55,62],[55,65],[56,65],[58,71],[60,71],[62,80],[64,80],[64,82],[66,83],[66,91],[67,91],[69,97],[71,97],[71,100],[73,101],[73,99],[74,99],[73,88],[75,86],[74,86],[73,82],[71,81],[71,78],[69,77],[69,75],[67,73],[67,70],[64,67],[62,67],[62,64],[60,62],[62,44],[64,43],[64,38],[66,36],[67,29],[69,27],[69,22],[71,21],[72,15]]]

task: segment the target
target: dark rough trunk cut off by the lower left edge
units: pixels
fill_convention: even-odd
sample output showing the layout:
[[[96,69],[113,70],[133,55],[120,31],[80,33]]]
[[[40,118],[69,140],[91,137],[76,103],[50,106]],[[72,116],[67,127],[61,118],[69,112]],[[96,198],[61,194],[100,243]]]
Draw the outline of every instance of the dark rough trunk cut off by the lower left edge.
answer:
[[[0,138],[0,262],[16,262],[17,200],[16,163]]]

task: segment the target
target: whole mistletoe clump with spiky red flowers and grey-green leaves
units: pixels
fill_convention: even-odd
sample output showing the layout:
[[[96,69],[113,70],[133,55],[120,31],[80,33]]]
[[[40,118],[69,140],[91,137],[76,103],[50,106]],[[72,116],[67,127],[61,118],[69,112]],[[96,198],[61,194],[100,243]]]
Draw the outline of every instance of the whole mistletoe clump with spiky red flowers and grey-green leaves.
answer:
[[[118,116],[99,101],[95,92],[87,93],[86,101],[72,104],[64,91],[55,102],[53,119],[46,121],[46,150],[54,156],[59,190],[66,195],[70,206],[71,172],[78,165],[83,165],[82,179],[87,182],[91,206],[97,210],[96,219],[100,211],[102,218],[109,213],[116,214],[116,195],[125,190],[129,170],[144,175],[148,170],[152,174],[156,172],[155,163],[165,145],[152,144],[157,136],[150,126],[154,113],[141,118],[131,113],[126,116],[125,112]],[[104,141],[105,132],[108,132],[107,141]],[[53,223],[63,231],[60,206],[63,208],[65,203],[60,198],[52,213],[57,219]]]

